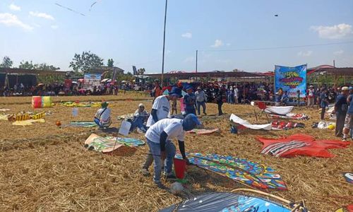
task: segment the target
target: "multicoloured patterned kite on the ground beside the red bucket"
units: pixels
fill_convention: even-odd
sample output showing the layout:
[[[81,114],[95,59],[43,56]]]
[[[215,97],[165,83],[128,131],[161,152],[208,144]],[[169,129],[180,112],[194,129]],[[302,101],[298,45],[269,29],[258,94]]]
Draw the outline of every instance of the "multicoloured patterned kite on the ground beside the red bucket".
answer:
[[[287,189],[285,182],[271,167],[249,160],[224,155],[203,155],[189,153],[187,157],[193,165],[210,170],[219,175],[234,179],[241,184],[259,189]],[[177,155],[181,158],[181,155]]]

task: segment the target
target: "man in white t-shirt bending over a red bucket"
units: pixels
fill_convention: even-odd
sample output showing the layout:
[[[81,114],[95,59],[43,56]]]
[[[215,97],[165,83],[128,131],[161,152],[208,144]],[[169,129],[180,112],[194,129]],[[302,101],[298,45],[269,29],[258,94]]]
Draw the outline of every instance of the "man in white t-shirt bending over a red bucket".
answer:
[[[160,182],[160,175],[162,172],[162,165],[166,160],[164,173],[167,179],[175,179],[172,174],[173,158],[175,156],[176,148],[172,143],[172,139],[177,139],[179,150],[183,159],[189,164],[186,158],[184,136],[185,131],[195,129],[196,126],[201,125],[195,114],[188,114],[184,119],[162,119],[153,124],[145,134],[150,152],[155,160],[155,175],[153,181],[158,187],[164,188]]]

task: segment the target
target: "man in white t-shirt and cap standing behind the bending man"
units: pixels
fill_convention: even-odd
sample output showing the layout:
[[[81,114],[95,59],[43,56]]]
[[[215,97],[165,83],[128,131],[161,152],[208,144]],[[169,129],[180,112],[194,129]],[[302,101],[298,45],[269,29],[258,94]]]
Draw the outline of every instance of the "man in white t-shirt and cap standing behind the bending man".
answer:
[[[181,98],[181,89],[178,87],[173,87],[169,95],[160,95],[155,98],[155,102],[153,102],[152,111],[150,117],[148,117],[146,126],[150,127],[162,119],[167,119],[170,110],[169,100],[176,100],[178,98]],[[153,157],[151,153],[148,153],[145,163],[143,163],[143,167],[141,169],[143,175],[149,175],[150,172],[148,172],[148,168],[152,165],[152,163]]]

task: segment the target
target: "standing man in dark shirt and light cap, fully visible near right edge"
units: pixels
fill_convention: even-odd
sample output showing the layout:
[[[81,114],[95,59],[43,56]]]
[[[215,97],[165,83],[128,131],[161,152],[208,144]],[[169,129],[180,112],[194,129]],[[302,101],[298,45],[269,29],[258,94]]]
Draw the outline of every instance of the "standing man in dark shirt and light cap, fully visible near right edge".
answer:
[[[341,94],[337,96],[334,110],[337,117],[335,129],[335,136],[337,137],[343,136],[343,126],[345,126],[345,118],[348,111],[347,97],[349,93],[349,88],[342,87],[341,90]]]

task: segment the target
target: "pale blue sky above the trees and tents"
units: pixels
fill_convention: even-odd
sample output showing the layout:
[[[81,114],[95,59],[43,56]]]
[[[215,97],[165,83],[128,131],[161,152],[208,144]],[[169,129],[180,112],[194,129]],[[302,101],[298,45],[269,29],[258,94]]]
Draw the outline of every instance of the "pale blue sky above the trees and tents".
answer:
[[[0,58],[68,71],[90,51],[160,73],[165,1],[96,1],[0,0]],[[198,71],[353,66],[352,25],[352,0],[169,0],[164,70],[195,71],[196,49]]]

